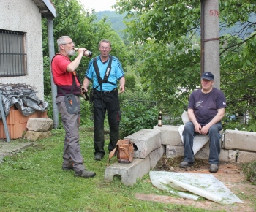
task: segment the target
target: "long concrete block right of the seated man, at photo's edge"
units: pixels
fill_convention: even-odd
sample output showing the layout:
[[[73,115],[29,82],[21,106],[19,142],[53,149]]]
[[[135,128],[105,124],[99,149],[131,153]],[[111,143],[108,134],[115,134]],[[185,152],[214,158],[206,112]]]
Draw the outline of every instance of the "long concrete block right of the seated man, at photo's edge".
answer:
[[[224,148],[256,152],[256,132],[227,129]]]

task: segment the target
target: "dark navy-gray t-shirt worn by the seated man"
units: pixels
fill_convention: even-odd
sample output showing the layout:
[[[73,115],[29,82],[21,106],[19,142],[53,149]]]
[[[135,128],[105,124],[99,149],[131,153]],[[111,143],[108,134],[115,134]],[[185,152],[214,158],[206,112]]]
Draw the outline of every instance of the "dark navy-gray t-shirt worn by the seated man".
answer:
[[[194,110],[195,118],[201,126],[208,124],[216,116],[218,109],[225,107],[225,95],[217,88],[213,88],[208,94],[203,94],[199,89],[193,91],[189,97],[188,108]]]

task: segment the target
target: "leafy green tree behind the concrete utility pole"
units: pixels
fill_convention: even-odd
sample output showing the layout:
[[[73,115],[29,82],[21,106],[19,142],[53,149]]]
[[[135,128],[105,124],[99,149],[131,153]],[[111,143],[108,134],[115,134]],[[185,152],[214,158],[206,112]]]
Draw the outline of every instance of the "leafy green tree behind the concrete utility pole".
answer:
[[[178,110],[187,105],[189,92],[200,83],[200,50],[192,49],[191,42],[200,33],[200,1],[117,0],[114,8],[128,12],[127,18],[132,20],[127,22],[127,32],[135,44],[143,42],[144,58],[138,67],[149,91],[164,107],[171,108],[172,116],[180,116]],[[219,14],[221,88],[230,105],[227,113],[249,112],[253,121],[255,3],[219,1]],[[232,29],[230,34],[225,33],[227,29]],[[187,92],[178,91],[181,88],[187,88]]]

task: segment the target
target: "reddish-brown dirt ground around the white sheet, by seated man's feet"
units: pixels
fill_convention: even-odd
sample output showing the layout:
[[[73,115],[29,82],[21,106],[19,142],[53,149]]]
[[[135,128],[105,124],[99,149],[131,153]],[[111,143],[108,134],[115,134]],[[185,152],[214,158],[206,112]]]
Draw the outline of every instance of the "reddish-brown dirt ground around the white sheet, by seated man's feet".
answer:
[[[194,201],[188,200],[182,197],[170,197],[168,195],[153,195],[153,194],[136,194],[136,198],[140,200],[151,200],[156,202],[164,202],[176,205],[192,205],[195,208],[203,208],[206,210],[225,210],[225,211],[243,211],[252,212],[256,211],[253,206],[253,201],[256,197],[256,186],[251,185],[246,181],[245,175],[242,173],[241,167],[237,164],[226,164],[222,163],[219,166],[219,171],[217,173],[209,173],[208,162],[203,160],[197,160],[194,167],[189,167],[187,169],[181,169],[178,167],[182,158],[177,159],[167,159],[163,157],[155,167],[154,170],[158,171],[172,171],[176,173],[200,173],[200,174],[213,174],[215,178],[225,186],[230,189],[233,194],[239,197],[244,204],[233,204],[233,205],[220,205],[216,202],[210,200]],[[255,203],[254,203],[255,204]]]

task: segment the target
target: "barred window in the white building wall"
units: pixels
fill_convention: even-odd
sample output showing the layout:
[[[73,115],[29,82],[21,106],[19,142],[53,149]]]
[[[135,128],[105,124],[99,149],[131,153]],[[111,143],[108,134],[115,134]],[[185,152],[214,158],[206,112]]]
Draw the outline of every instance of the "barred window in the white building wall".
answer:
[[[25,33],[0,29],[0,77],[26,75]]]

